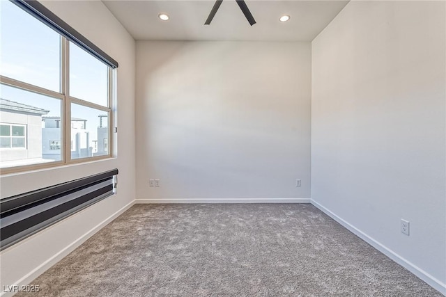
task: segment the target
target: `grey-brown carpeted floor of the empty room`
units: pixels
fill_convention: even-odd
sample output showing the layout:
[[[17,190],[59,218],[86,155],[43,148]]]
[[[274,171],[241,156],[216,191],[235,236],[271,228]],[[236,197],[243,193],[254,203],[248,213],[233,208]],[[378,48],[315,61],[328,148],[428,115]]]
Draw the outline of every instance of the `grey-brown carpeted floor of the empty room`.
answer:
[[[311,204],[137,204],[33,284],[40,296],[442,296]]]

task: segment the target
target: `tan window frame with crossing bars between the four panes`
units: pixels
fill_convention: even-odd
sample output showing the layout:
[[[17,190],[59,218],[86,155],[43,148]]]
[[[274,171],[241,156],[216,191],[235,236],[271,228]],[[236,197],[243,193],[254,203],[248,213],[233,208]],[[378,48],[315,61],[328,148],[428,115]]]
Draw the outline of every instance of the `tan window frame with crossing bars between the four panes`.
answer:
[[[26,11],[24,11],[26,13]],[[31,15],[33,16],[33,15]],[[59,92],[56,92],[54,90],[47,90],[45,88],[41,88],[39,86],[35,86],[30,83],[26,83],[24,81],[19,81],[16,79],[12,79],[10,77],[5,77],[3,75],[0,75],[0,83],[6,86],[11,86],[14,88],[20,88],[22,90],[30,91],[33,93],[38,93],[40,95],[46,95],[49,97],[54,97],[56,99],[61,100],[61,160],[60,161],[52,161],[52,162],[43,162],[43,163],[35,163],[35,164],[29,164],[24,166],[11,166],[6,168],[0,168],[0,175],[5,175],[8,173],[15,173],[15,172],[23,172],[23,171],[29,171],[29,170],[36,170],[41,168],[52,168],[56,166],[66,166],[73,163],[86,163],[91,161],[98,161],[101,159],[109,159],[113,157],[114,147],[112,141],[109,142],[109,150],[108,154],[103,154],[100,156],[87,156],[82,158],[71,158],[71,104],[79,104],[81,106],[86,106],[98,111],[102,111],[104,113],[107,113],[107,127],[108,127],[108,133],[107,133],[107,139],[113,139],[116,128],[112,128],[114,123],[114,116],[116,113],[116,109],[114,109],[114,83],[116,83],[116,79],[114,77],[116,76],[116,68],[111,67],[110,65],[107,66],[107,106],[102,106],[99,104],[95,104],[92,102],[88,102],[86,100],[82,100],[76,97],[70,96],[70,40],[66,38],[66,36],[61,35],[58,31],[54,30],[55,33],[59,34],[60,38],[60,67],[59,67],[59,78],[60,78],[60,88]],[[85,49],[84,49],[85,50]],[[89,51],[86,51],[87,53],[91,54]],[[91,55],[93,56],[93,55]],[[93,56],[93,58],[97,58],[96,56]],[[102,63],[104,63],[102,60],[98,59]],[[38,104],[37,104],[38,106]],[[115,131],[113,131],[115,130]],[[25,129],[26,131],[26,129]],[[25,132],[26,133],[26,132]],[[25,136],[25,147],[15,147],[14,149],[17,150],[28,150],[28,147],[26,146],[26,136]],[[12,143],[11,143],[12,145]],[[5,148],[6,149],[6,148]]]

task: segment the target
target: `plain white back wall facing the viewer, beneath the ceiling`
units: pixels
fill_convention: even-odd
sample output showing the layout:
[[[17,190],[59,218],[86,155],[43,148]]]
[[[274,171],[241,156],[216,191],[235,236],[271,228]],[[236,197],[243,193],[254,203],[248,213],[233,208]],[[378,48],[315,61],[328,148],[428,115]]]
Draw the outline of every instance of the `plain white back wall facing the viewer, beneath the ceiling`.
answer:
[[[309,200],[309,42],[137,42],[137,61],[137,199]]]

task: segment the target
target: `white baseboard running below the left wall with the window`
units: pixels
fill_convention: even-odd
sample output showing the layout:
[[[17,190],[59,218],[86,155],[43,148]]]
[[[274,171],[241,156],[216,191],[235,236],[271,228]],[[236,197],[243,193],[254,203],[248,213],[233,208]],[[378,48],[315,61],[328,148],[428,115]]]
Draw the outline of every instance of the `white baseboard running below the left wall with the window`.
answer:
[[[82,243],[84,243],[87,239],[89,239],[91,236],[93,236],[96,232],[102,229],[105,225],[110,223],[112,220],[123,214],[124,211],[130,209],[134,205],[134,200],[127,205],[125,205],[123,208],[116,211],[114,214],[103,220],[98,225],[95,225],[95,227],[91,228],[88,232],[86,232],[84,235],[80,236],[78,239],[70,243],[69,246],[66,246],[66,248],[63,248],[60,252],[52,256],[51,258],[47,259],[47,261],[43,262],[36,268],[34,268],[31,272],[24,275],[23,278],[20,278],[20,280],[17,280],[14,284],[16,284],[19,288],[22,285],[29,284],[36,278],[38,278],[39,275],[47,271],[51,266],[59,262],[63,257],[68,255],[70,252],[75,250],[78,246],[80,246]],[[4,292],[4,294],[0,294],[1,297],[9,297],[13,296],[15,292]]]

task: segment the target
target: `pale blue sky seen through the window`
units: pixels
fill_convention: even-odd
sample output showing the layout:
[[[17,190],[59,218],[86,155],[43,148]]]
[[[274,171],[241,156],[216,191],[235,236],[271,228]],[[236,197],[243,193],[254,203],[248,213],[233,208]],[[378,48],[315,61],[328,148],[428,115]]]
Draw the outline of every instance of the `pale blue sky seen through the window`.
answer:
[[[60,92],[60,35],[24,10],[0,0],[0,74],[11,79]],[[70,42],[70,95],[107,106],[108,67]],[[6,85],[0,97],[61,115],[61,100]],[[98,115],[105,111],[72,104],[72,117],[87,120],[87,130],[96,134]],[[91,136],[93,136],[91,135]]]

